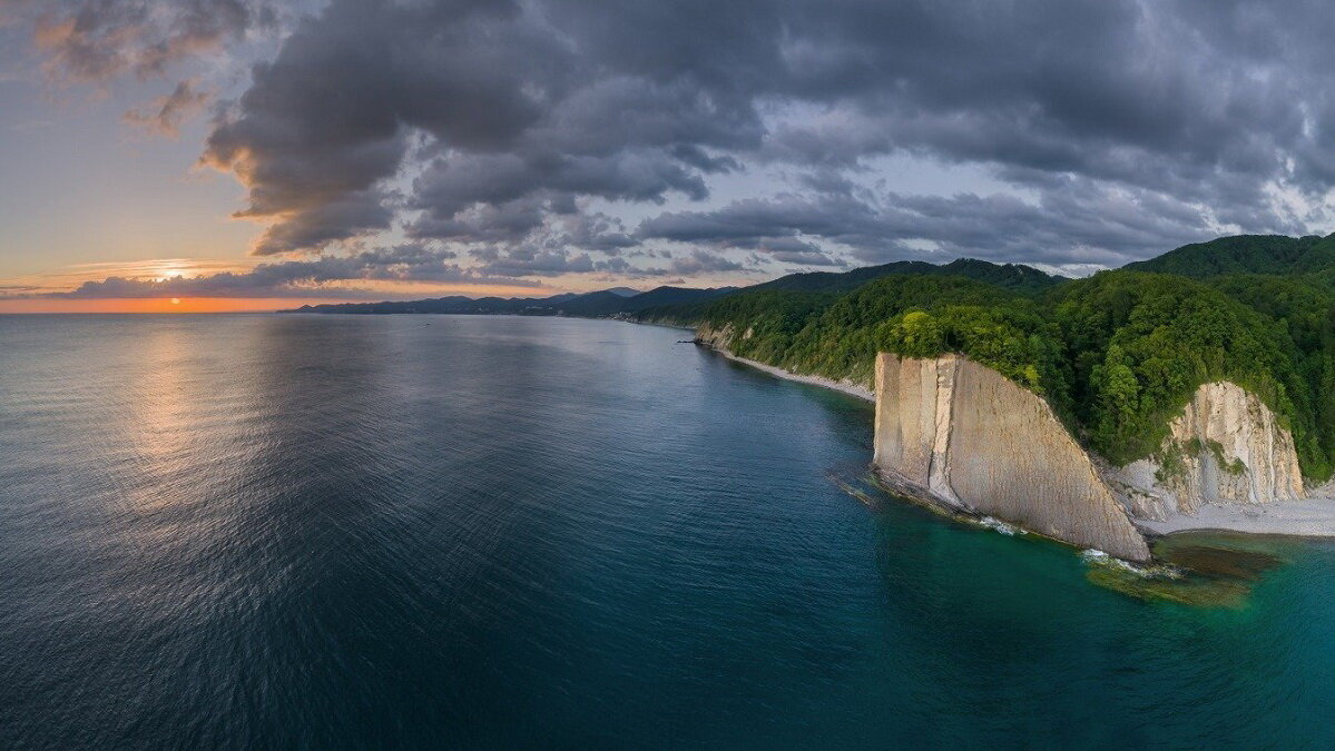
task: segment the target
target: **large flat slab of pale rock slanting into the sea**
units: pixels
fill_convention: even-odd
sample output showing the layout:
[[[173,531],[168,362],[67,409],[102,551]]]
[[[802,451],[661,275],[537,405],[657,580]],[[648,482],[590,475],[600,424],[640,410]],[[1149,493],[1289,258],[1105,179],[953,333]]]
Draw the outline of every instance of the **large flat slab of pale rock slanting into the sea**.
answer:
[[[972,360],[876,360],[876,467],[901,492],[1149,560],[1144,538],[1037,395]]]

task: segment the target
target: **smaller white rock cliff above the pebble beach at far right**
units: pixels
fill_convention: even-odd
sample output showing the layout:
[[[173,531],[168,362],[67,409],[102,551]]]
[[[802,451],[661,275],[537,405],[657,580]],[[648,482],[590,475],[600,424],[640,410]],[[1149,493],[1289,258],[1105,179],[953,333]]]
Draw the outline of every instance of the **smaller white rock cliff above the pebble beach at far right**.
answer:
[[[1152,459],[1109,471],[1136,516],[1164,520],[1210,504],[1303,498],[1292,435],[1260,399],[1232,383],[1207,383],[1169,424]]]

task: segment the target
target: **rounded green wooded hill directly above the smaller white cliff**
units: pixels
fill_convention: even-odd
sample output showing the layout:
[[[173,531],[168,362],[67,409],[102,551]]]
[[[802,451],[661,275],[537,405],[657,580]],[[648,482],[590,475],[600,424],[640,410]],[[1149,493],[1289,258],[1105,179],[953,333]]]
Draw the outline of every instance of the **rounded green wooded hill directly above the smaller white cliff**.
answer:
[[[1065,285],[1049,304],[1073,375],[1076,422],[1104,456],[1149,455],[1200,384],[1230,380],[1292,431],[1306,475],[1330,476],[1312,408],[1319,379],[1303,378],[1304,353],[1283,320],[1207,284],[1129,271]]]

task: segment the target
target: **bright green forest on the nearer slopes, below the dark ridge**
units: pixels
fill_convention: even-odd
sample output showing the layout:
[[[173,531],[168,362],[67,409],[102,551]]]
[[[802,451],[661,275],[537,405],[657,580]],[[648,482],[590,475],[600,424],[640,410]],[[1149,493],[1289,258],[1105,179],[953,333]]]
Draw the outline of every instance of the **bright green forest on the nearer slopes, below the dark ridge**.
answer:
[[[1304,475],[1324,480],[1335,456],[1331,296],[1304,281],[1111,271],[1035,293],[896,275],[845,295],[734,293],[693,320],[744,357],[865,384],[878,351],[960,352],[1117,463],[1155,452],[1200,384],[1231,380],[1292,431]]]

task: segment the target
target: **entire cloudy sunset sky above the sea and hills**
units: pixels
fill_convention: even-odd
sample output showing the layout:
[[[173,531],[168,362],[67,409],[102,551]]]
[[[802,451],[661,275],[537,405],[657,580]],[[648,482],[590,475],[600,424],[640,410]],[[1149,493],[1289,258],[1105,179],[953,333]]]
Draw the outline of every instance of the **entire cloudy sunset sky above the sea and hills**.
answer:
[[[0,0],[0,312],[1335,229],[1324,0]]]

